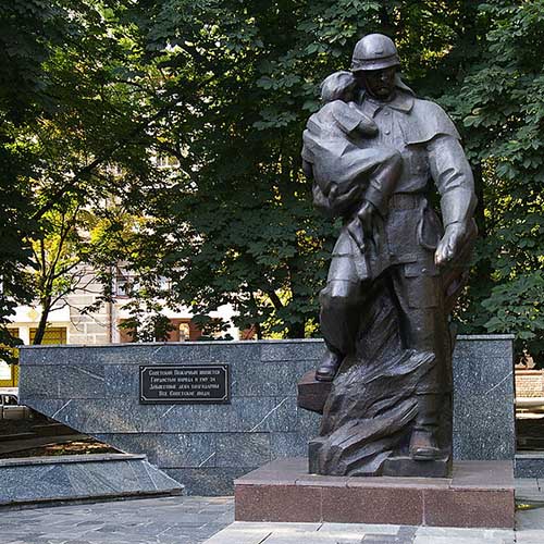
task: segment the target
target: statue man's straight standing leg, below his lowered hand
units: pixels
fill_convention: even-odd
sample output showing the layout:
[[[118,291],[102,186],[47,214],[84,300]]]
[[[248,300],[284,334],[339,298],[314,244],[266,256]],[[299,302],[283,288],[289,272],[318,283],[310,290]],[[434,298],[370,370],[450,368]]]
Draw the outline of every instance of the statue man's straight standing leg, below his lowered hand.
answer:
[[[432,370],[422,378],[416,392],[418,417],[410,441],[410,455],[415,459],[434,459],[440,455],[436,440],[440,412],[450,382],[447,375],[450,338],[441,277],[417,272],[423,268],[417,264],[397,267],[392,279],[404,346],[435,356]]]

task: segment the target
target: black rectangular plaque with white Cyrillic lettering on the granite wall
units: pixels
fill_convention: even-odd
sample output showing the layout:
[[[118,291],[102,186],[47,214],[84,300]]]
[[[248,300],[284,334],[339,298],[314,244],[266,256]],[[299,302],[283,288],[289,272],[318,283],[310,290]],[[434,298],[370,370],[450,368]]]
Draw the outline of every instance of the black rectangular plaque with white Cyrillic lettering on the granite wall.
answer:
[[[227,404],[228,364],[149,364],[139,368],[140,404]]]

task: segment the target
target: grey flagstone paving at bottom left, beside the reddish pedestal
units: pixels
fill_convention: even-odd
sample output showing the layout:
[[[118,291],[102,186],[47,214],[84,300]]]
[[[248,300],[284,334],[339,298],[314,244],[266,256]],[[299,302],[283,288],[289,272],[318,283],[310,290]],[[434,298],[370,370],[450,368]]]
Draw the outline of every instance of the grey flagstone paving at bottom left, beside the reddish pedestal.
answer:
[[[232,497],[143,498],[2,509],[0,543],[199,544],[233,519]]]

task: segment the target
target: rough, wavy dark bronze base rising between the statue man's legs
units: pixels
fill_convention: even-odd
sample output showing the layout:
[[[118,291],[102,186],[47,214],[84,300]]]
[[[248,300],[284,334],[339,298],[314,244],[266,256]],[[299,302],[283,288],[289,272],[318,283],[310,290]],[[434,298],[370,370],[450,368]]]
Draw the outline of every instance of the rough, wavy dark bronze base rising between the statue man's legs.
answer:
[[[452,453],[452,337],[445,329],[432,351],[403,347],[398,314],[376,286],[362,314],[356,351],[331,382],[308,372],[298,384],[298,406],[322,413],[320,434],[309,443],[309,470],[323,475],[449,475]],[[447,362],[445,364],[444,362]],[[426,387],[422,394],[421,388]],[[434,393],[431,393],[434,387]],[[438,393],[440,391],[440,393]],[[431,398],[432,410],[423,405]],[[426,410],[426,412],[424,411]],[[438,453],[410,459],[410,441],[422,422]],[[429,417],[431,413],[432,417]],[[423,429],[423,433],[426,431]]]

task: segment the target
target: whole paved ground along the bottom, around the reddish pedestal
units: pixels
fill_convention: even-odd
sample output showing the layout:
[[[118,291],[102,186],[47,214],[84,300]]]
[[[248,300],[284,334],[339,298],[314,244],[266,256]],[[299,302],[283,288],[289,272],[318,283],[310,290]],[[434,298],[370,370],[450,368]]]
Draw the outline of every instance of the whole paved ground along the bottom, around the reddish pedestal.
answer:
[[[1,544],[543,544],[544,481],[516,480],[516,531],[234,521],[232,497],[163,497],[0,511]]]

